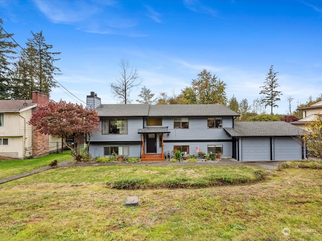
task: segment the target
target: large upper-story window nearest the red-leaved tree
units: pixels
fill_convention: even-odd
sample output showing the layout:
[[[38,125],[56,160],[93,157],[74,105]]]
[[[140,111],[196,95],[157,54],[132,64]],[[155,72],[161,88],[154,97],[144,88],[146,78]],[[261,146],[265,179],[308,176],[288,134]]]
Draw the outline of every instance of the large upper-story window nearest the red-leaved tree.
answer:
[[[127,135],[127,119],[102,118],[102,134]]]

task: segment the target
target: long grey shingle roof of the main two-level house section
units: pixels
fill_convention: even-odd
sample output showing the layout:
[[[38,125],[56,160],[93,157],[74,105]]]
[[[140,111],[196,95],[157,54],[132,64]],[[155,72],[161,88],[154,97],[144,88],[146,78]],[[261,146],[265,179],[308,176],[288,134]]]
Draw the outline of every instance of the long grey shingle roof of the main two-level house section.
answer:
[[[100,116],[239,116],[221,104],[102,104]]]

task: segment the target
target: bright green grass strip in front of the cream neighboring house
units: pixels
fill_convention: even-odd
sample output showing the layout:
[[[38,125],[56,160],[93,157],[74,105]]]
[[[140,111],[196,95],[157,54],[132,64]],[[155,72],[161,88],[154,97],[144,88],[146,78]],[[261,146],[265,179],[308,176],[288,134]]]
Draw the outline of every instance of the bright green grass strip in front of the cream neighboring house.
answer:
[[[53,160],[62,162],[69,159],[72,159],[70,151],[65,151],[64,153],[59,154],[49,154],[47,156],[34,159],[0,160],[0,179],[48,166]]]

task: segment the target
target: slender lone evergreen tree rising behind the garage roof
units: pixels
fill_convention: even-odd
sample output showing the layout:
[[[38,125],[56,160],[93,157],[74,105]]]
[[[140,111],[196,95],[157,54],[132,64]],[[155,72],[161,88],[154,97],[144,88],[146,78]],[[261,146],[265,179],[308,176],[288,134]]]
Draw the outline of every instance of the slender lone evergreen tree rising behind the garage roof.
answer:
[[[271,65],[269,72],[266,74],[265,85],[261,86],[262,90],[260,91],[260,94],[264,94],[262,103],[265,104],[265,107],[271,106],[271,114],[273,114],[273,107],[278,107],[276,102],[281,100],[279,96],[282,95],[282,91],[276,90],[280,86],[277,83],[277,73],[273,71],[273,65]]]

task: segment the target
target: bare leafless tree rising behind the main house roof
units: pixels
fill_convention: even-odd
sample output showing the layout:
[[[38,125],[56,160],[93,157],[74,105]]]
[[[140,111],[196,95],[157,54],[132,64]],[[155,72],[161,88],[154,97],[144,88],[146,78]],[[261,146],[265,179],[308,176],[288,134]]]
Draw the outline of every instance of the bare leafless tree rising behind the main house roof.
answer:
[[[129,69],[129,61],[126,59],[121,59],[119,66],[121,68],[121,76],[115,78],[117,83],[112,83],[111,91],[114,97],[118,97],[122,104],[131,103],[130,90],[133,87],[139,86],[142,81],[138,80],[139,76],[137,70],[133,68]]]

